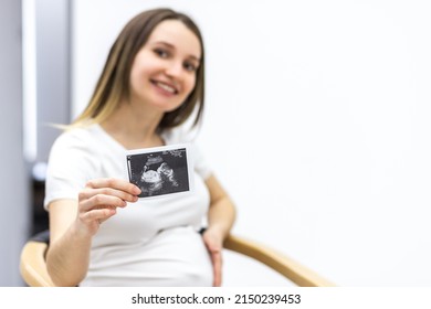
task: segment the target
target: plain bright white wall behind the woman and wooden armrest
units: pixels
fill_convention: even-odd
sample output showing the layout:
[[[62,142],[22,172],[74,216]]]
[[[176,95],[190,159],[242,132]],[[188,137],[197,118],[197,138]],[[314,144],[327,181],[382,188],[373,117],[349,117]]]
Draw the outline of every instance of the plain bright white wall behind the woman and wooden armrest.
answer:
[[[73,115],[130,17],[186,11],[207,43],[200,141],[234,232],[340,286],[431,285],[429,1],[73,3]],[[242,285],[280,284],[228,259]]]

